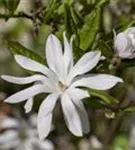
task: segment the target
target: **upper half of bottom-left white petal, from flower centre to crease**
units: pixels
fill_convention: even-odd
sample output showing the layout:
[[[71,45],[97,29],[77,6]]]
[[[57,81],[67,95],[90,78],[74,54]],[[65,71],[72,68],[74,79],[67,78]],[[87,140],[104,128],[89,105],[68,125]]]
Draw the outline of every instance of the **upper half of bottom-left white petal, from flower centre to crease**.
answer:
[[[38,117],[44,118],[49,113],[51,113],[54,109],[58,97],[59,93],[49,94],[40,105]]]

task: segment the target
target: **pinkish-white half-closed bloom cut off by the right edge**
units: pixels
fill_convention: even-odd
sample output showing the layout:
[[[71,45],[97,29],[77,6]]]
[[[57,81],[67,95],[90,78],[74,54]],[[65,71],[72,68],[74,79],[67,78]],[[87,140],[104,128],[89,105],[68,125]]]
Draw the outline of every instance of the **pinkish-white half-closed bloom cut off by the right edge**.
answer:
[[[114,39],[114,47],[120,58],[135,58],[135,27],[119,33]]]

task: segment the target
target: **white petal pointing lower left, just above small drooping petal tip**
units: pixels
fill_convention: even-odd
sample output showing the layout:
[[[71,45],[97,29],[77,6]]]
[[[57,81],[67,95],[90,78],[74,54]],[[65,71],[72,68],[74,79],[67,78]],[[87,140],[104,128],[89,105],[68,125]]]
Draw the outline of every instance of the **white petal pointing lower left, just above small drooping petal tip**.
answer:
[[[45,88],[43,85],[33,85],[27,89],[24,89],[20,92],[15,93],[14,95],[5,99],[5,102],[8,103],[19,103],[29,99],[40,93],[47,93],[50,92],[48,89]]]

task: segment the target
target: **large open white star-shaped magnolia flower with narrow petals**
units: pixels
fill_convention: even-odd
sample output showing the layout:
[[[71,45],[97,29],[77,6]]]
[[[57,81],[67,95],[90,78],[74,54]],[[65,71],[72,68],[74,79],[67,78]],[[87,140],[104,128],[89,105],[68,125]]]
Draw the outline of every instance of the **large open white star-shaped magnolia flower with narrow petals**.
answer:
[[[72,41],[72,40],[71,40]],[[89,93],[79,87],[107,90],[122,79],[107,74],[87,74],[100,60],[100,51],[84,54],[74,65],[72,42],[64,34],[64,52],[56,36],[50,35],[46,43],[48,67],[21,55],[15,55],[16,62],[24,69],[38,72],[30,77],[20,78],[3,75],[2,78],[16,84],[35,83],[10,97],[5,102],[18,103],[27,100],[25,108],[30,111],[33,97],[40,93],[49,93],[42,102],[37,119],[38,134],[44,139],[51,130],[52,112],[57,100],[60,100],[64,118],[69,130],[76,136],[89,132],[89,121],[82,99]]]

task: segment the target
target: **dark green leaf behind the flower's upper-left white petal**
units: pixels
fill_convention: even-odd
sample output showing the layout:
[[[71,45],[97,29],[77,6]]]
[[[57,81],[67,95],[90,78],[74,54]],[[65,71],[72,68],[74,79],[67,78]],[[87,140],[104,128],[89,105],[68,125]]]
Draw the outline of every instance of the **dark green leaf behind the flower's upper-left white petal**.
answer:
[[[20,54],[29,57],[39,63],[46,64],[46,60],[32,50],[27,49],[19,42],[7,41],[7,47],[12,55]]]

